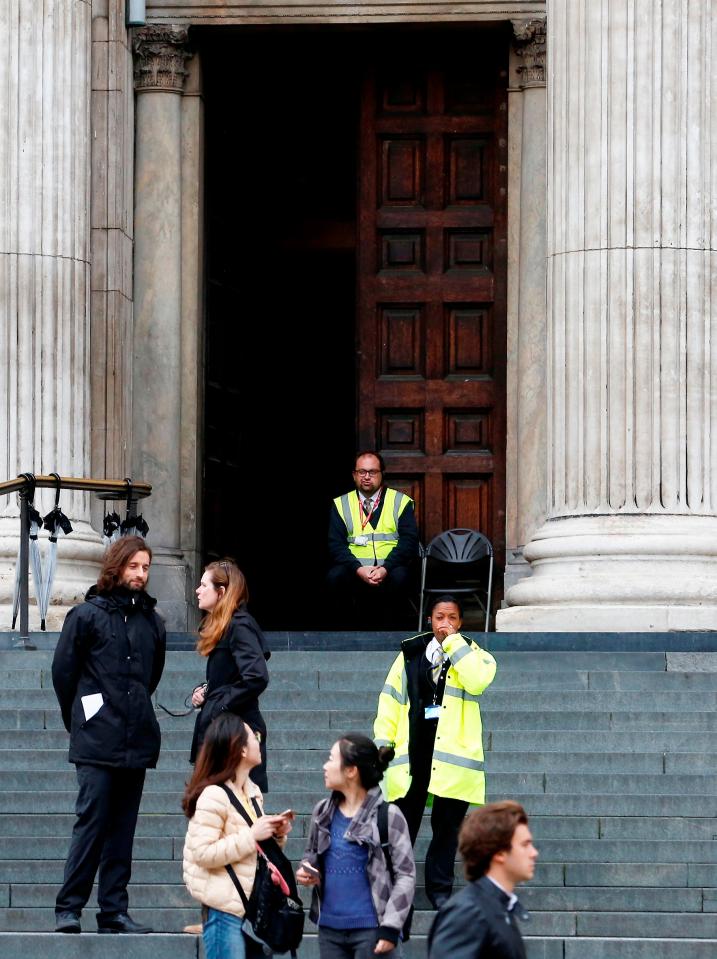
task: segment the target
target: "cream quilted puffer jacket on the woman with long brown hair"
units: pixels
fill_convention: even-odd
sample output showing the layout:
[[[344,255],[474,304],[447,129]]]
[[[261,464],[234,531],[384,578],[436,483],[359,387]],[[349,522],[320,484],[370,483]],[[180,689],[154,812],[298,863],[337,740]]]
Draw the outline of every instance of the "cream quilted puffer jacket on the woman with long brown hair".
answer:
[[[245,789],[247,795],[256,797],[262,806],[259,787],[248,779]],[[184,882],[190,894],[203,905],[243,916],[244,905],[224,868],[227,863],[234,867],[249,898],[256,873],[254,839],[224,790],[220,786],[207,786],[189,820],[184,841]]]

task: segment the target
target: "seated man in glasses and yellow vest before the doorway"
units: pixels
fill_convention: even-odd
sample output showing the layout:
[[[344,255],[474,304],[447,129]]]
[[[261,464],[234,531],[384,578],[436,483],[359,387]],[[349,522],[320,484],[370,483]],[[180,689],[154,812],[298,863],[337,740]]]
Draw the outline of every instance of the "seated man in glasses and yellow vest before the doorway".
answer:
[[[400,627],[405,618],[418,529],[413,500],[383,485],[384,468],[379,453],[359,453],[353,471],[356,489],[334,500],[328,586],[344,613],[356,600],[359,621],[371,619],[386,628]]]

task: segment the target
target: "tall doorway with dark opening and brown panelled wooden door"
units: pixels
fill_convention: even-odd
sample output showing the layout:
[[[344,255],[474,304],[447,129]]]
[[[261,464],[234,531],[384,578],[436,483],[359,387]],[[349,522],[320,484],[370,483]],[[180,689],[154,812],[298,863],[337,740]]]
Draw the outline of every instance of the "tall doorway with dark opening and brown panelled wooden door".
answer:
[[[317,629],[358,448],[505,551],[504,25],[207,29],[204,555]],[[360,379],[359,379],[360,378]]]

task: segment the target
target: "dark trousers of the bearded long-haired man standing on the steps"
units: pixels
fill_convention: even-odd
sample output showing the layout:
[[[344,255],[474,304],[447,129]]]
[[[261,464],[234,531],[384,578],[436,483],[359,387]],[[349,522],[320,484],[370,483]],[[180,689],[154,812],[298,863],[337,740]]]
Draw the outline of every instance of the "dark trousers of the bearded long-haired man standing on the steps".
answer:
[[[144,769],[77,765],[80,791],[65,877],[55,912],[81,913],[99,870],[97,901],[105,916],[127,912],[132,844]]]

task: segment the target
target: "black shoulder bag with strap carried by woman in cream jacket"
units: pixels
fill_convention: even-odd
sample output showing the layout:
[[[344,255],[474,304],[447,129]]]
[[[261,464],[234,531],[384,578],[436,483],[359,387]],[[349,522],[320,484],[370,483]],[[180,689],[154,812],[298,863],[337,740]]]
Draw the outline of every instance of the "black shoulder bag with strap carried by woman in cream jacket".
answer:
[[[222,789],[236,811],[252,826],[251,816],[231,789],[224,784]],[[257,816],[261,816],[256,800],[252,800],[252,805]],[[276,840],[265,839],[261,846],[256,845],[256,875],[248,898],[232,867],[225,867],[244,903],[244,934],[262,946],[266,953],[290,952],[295,957],[304,934],[304,907],[291,863]]]

